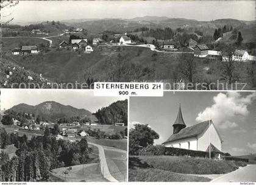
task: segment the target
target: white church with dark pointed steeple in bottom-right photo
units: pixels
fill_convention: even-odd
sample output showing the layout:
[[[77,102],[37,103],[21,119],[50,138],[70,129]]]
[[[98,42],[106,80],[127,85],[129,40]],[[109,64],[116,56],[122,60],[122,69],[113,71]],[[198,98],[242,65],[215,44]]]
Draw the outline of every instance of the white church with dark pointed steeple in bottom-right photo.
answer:
[[[212,120],[187,127],[179,106],[176,121],[172,125],[173,134],[163,142],[165,147],[183,148],[216,153],[220,158],[222,139]]]

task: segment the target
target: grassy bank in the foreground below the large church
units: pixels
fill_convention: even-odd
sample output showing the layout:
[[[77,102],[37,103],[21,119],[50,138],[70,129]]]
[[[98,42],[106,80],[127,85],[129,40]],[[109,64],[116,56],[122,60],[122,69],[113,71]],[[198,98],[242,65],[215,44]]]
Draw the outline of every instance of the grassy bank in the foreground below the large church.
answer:
[[[229,173],[238,169],[239,166],[246,165],[246,163],[242,163],[216,161],[205,158],[188,158],[184,156],[130,156],[129,180],[207,181],[205,176],[203,177],[202,174],[207,176],[212,174]],[[176,173],[181,176],[177,178],[177,176],[174,175]],[[167,174],[170,175],[165,178],[165,175]],[[199,176],[196,176],[195,174],[198,174]],[[198,179],[195,180],[194,178]]]

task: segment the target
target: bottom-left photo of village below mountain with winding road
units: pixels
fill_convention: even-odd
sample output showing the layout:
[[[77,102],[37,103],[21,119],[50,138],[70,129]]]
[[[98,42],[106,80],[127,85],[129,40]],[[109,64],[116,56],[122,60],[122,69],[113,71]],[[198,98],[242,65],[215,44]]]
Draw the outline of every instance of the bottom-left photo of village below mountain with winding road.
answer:
[[[1,181],[127,181],[127,99],[1,89],[0,127]]]

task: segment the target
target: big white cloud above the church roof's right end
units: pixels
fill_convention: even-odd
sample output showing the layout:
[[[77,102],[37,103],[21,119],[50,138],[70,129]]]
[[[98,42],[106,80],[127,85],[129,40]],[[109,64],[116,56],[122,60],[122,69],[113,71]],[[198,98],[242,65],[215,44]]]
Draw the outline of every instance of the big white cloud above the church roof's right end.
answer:
[[[230,119],[235,116],[240,116],[243,119],[243,117],[247,116],[249,114],[247,106],[251,105],[254,99],[255,92],[246,97],[235,91],[229,91],[226,94],[220,92],[213,97],[213,105],[200,112],[196,120],[197,122],[202,122],[210,118],[217,127],[222,129],[237,127],[238,125],[235,122],[231,122]]]

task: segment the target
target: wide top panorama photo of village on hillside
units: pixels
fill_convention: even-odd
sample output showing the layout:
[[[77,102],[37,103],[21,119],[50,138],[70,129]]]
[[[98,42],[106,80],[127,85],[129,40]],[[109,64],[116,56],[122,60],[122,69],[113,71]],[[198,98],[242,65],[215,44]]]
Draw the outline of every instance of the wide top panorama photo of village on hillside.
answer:
[[[256,87],[255,1],[1,1],[1,26],[1,88]]]

